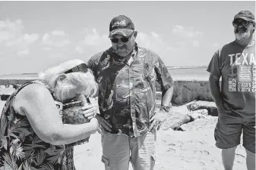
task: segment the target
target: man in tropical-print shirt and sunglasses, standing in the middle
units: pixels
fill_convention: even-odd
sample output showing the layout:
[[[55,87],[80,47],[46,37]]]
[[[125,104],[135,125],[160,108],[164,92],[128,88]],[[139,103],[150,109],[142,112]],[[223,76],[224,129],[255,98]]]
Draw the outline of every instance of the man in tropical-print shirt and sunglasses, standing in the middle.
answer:
[[[99,109],[106,169],[150,170],[155,164],[156,129],[166,120],[173,80],[160,57],[135,42],[130,18],[114,17],[109,25],[112,47],[95,54],[88,66],[99,84]],[[162,104],[156,111],[156,82]]]

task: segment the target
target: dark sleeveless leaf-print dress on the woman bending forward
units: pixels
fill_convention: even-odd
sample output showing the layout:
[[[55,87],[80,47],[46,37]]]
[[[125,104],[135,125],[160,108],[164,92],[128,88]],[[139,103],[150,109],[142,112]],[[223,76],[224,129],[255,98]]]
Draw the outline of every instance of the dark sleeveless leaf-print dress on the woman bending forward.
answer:
[[[42,141],[26,116],[14,111],[16,94],[28,82],[14,91],[0,118],[0,170],[74,170],[73,145],[52,145]]]

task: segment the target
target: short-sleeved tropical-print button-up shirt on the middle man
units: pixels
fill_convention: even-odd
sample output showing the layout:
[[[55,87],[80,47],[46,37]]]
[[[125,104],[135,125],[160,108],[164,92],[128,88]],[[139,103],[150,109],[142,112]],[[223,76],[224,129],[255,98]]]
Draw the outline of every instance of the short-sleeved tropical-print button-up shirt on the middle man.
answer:
[[[156,82],[162,91],[173,85],[160,57],[136,44],[129,60],[109,48],[91,57],[87,65],[99,85],[100,115],[112,125],[111,133],[146,134],[156,109]]]

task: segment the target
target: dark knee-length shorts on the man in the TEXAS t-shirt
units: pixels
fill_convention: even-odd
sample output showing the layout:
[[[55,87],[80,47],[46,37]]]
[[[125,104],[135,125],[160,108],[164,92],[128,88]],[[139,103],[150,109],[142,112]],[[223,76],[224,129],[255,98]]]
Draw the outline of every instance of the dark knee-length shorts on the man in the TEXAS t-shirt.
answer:
[[[214,131],[216,147],[229,149],[240,144],[246,150],[255,153],[255,117],[244,118],[229,110],[218,111],[218,122]]]

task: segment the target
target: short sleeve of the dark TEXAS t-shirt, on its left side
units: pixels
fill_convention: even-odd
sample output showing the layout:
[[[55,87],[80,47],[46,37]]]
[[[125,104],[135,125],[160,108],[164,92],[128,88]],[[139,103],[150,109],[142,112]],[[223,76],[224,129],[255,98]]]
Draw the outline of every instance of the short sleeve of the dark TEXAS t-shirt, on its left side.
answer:
[[[212,59],[207,67],[207,72],[211,73],[213,76],[221,76],[221,63],[220,63],[220,51],[216,51],[213,54]]]

